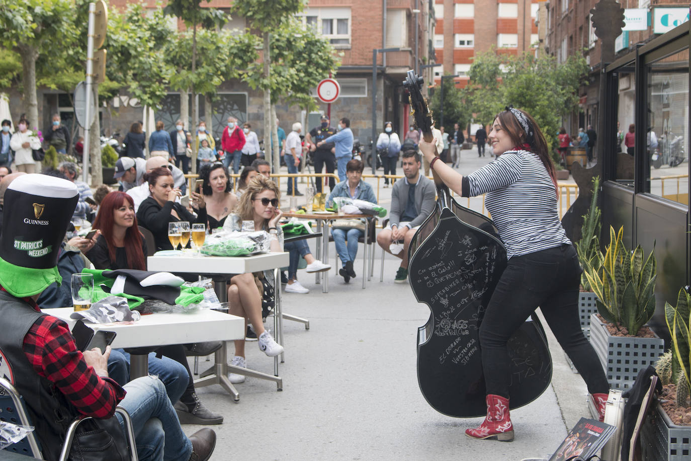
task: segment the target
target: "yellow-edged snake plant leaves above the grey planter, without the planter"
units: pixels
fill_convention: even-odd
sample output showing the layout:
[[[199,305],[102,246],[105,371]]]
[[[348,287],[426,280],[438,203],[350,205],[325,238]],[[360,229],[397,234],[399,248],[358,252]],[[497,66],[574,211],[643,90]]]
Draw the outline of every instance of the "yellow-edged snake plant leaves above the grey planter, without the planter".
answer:
[[[655,279],[657,262],[655,250],[643,262],[643,248],[638,245],[629,252],[623,241],[624,228],[615,234],[609,227],[609,245],[599,268],[586,270],[596,300],[598,312],[619,330],[627,329],[629,335],[637,335],[655,312]]]

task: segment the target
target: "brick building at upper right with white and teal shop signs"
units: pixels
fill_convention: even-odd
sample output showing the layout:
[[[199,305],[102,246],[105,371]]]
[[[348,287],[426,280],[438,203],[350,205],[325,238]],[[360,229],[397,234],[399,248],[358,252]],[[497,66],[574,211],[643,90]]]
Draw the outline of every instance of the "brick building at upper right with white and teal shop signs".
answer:
[[[590,14],[591,8],[594,8],[597,2],[598,0],[547,0],[540,3],[539,26],[540,31],[544,27],[545,34],[544,37],[540,37],[540,52],[555,56],[558,62],[564,61],[575,53],[583,53],[591,69],[589,84],[581,86],[579,90],[580,112],[571,114],[563,121],[569,133],[576,133],[579,127],[585,129],[589,124],[596,129],[598,126],[600,96],[598,75],[602,66],[600,40],[594,33]],[[689,8],[686,0],[621,0],[620,3],[623,8],[632,9],[627,14],[627,22],[633,23],[637,18],[636,22],[642,24],[643,30],[622,32],[615,42],[615,59],[630,53],[635,49],[636,44],[647,43],[661,33],[672,30],[675,23],[683,21],[683,8],[685,8],[685,17],[688,18]],[[638,11],[633,9],[638,9]],[[679,13],[679,10],[682,10],[682,19],[676,18],[676,15],[674,19],[663,18],[665,15],[669,16],[672,11]],[[665,25],[663,26],[661,22]],[[688,54],[685,59],[688,60]],[[621,76],[619,84],[621,106],[632,107],[633,105],[632,78],[633,75]],[[622,111],[620,115],[621,126],[628,126],[630,122],[633,122],[632,110]]]

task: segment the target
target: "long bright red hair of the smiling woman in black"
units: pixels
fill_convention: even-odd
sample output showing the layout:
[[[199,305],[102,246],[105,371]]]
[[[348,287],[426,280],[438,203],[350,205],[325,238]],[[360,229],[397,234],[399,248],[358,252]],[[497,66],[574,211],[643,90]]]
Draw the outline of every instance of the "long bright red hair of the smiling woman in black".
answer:
[[[101,235],[106,239],[108,257],[111,258],[111,261],[115,261],[115,239],[113,238],[115,219],[113,212],[126,204],[134,207],[134,200],[129,194],[121,191],[111,192],[103,198],[96,219],[93,221],[93,229],[100,229]],[[132,227],[129,227],[125,232],[124,245],[129,267],[123,267],[123,269],[146,270],[144,252],[142,251],[142,235],[137,226],[137,216],[134,217]],[[106,269],[106,267],[103,268]]]

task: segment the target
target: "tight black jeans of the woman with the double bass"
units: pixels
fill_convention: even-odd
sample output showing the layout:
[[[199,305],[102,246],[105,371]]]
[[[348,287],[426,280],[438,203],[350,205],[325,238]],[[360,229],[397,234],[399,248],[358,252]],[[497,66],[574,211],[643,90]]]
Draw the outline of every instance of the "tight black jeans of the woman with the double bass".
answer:
[[[600,359],[580,329],[580,264],[573,245],[513,256],[494,290],[480,326],[486,393],[509,397],[507,341],[538,307],[589,393],[608,393]]]

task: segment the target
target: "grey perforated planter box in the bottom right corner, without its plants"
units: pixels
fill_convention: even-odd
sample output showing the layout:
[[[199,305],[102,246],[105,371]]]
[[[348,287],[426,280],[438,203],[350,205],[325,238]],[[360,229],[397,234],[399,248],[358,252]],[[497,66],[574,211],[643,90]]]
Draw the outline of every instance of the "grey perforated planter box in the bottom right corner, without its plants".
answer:
[[[690,459],[691,426],[676,426],[661,406],[654,408],[641,426],[644,460],[682,461]]]

